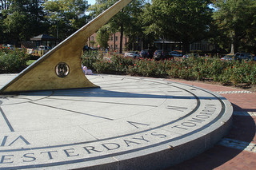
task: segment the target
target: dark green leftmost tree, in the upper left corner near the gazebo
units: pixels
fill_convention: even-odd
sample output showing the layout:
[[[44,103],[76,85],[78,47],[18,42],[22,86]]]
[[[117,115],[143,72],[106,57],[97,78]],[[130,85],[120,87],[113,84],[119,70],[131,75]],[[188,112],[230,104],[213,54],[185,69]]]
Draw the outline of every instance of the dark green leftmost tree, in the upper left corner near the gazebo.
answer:
[[[42,34],[45,30],[42,1],[12,0],[6,10],[2,10],[2,27],[5,42],[27,41],[31,36]]]

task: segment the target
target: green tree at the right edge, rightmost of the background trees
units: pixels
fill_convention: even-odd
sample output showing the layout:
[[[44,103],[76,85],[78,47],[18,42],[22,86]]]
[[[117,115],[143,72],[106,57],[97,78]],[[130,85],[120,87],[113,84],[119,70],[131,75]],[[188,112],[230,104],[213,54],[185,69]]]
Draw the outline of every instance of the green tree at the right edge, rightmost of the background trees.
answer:
[[[223,0],[214,2],[214,7],[214,22],[223,37],[228,38],[230,53],[238,52],[242,44],[248,45],[248,40],[255,43],[256,1]]]

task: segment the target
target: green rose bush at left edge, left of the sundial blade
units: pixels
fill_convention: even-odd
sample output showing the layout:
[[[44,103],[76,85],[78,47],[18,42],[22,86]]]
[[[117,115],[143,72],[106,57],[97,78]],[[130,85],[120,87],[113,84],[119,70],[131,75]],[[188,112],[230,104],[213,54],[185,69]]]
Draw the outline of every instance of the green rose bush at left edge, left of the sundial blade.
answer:
[[[19,73],[26,68],[28,55],[20,49],[0,49],[0,73]]]

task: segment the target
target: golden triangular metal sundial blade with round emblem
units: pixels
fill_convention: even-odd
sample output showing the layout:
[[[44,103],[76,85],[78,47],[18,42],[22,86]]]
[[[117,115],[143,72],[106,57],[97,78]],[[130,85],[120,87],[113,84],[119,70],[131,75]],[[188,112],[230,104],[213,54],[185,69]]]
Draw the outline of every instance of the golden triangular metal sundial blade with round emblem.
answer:
[[[94,18],[63,42],[24,69],[0,89],[0,93],[50,89],[77,89],[97,87],[82,72],[82,48],[87,39],[128,5],[131,0],[120,0]]]

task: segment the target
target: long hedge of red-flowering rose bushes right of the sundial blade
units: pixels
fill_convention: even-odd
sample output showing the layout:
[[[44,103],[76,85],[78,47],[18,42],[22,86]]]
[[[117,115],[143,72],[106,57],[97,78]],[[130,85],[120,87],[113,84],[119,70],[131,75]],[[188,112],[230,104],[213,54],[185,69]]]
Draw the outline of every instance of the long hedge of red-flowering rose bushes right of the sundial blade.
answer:
[[[217,81],[227,84],[255,84],[255,61],[221,61],[218,58],[190,57],[183,61],[86,56],[82,62],[97,73],[130,74],[145,77],[174,77],[186,80]]]

